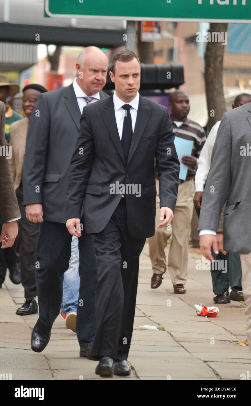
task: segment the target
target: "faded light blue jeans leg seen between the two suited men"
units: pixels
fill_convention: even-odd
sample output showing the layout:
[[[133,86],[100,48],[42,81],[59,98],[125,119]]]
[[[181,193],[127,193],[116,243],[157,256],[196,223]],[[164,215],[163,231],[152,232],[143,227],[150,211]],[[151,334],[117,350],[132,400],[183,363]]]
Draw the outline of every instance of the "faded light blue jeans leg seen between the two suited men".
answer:
[[[68,314],[71,311],[77,313],[77,301],[79,294],[79,252],[78,238],[73,235],[71,240],[71,258],[69,268],[64,272],[63,299],[61,310]]]

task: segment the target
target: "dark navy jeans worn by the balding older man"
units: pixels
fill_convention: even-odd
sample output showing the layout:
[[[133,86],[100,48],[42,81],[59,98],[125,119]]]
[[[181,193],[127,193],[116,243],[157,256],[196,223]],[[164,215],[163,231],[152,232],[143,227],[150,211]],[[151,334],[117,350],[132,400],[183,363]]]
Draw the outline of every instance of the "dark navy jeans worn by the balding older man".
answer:
[[[83,220],[82,220],[83,222]],[[40,223],[36,245],[39,268],[36,269],[36,289],[39,318],[51,326],[62,305],[64,272],[69,268],[72,235],[65,224],[50,221]],[[80,346],[90,345],[96,332],[95,290],[97,262],[90,234],[82,231],[79,244],[79,300],[77,307],[77,339]]]

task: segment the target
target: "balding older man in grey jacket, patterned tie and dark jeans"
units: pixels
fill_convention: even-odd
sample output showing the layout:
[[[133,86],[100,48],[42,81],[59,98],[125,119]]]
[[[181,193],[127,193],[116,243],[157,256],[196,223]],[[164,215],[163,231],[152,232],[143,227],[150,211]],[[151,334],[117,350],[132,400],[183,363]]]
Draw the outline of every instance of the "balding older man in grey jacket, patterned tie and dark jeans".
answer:
[[[23,169],[24,205],[28,220],[40,222],[36,246],[36,287],[39,319],[31,347],[41,352],[49,342],[51,327],[60,313],[62,281],[69,267],[71,238],[65,227],[66,191],[71,156],[79,135],[83,108],[107,97],[105,86],[108,60],[99,48],[80,53],[77,78],[68,87],[39,96],[30,117]],[[96,330],[95,289],[97,266],[89,234],[79,238],[79,305],[77,338],[80,356],[88,356]]]

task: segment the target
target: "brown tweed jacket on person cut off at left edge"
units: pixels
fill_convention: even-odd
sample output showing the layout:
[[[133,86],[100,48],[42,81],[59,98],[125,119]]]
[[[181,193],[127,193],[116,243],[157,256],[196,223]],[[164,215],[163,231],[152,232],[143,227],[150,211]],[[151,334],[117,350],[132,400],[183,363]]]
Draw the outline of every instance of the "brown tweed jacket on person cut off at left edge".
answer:
[[[4,123],[5,107],[4,103],[0,102],[0,210],[4,222],[6,222],[13,218],[21,217],[21,214],[17,203],[9,160],[6,159]]]

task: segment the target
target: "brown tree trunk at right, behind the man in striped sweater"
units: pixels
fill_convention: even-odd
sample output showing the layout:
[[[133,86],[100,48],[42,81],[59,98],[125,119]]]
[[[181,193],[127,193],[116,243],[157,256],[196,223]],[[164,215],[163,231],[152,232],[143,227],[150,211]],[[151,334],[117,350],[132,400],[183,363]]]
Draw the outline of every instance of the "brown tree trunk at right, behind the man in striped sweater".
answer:
[[[208,32],[226,32],[227,24],[211,23]],[[224,34],[225,37],[225,34]],[[211,37],[212,38],[212,37]],[[205,52],[205,90],[208,108],[208,132],[221,120],[226,111],[223,93],[223,55],[225,45],[222,42],[208,42]]]

